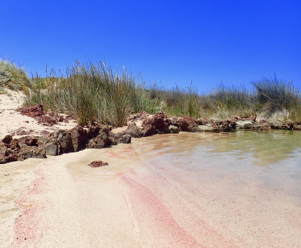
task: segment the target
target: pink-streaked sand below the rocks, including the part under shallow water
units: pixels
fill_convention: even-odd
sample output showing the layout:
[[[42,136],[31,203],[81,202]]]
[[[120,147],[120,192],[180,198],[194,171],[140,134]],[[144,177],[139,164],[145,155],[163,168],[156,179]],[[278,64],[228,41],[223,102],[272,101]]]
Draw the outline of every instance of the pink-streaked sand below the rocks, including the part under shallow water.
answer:
[[[155,135],[1,165],[0,247],[299,247],[291,134]]]

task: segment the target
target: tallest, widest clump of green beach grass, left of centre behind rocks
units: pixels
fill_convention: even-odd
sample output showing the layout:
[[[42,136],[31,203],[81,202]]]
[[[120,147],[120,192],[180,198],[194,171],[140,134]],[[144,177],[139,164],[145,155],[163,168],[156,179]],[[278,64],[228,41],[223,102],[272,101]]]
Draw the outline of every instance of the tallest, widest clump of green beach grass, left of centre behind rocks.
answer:
[[[141,75],[120,73],[105,62],[81,63],[67,69],[66,76],[36,77],[24,104],[43,104],[45,110],[75,115],[80,125],[95,121],[121,127],[131,112],[159,110],[159,101],[151,99]]]

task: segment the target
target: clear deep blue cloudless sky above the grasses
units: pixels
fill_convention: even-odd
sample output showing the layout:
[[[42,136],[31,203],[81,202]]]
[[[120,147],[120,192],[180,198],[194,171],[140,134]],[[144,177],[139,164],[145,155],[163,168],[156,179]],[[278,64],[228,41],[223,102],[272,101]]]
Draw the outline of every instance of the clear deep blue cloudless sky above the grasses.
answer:
[[[214,3],[209,3],[214,2]],[[85,57],[200,90],[301,85],[301,1],[2,1],[0,56],[45,76]]]

